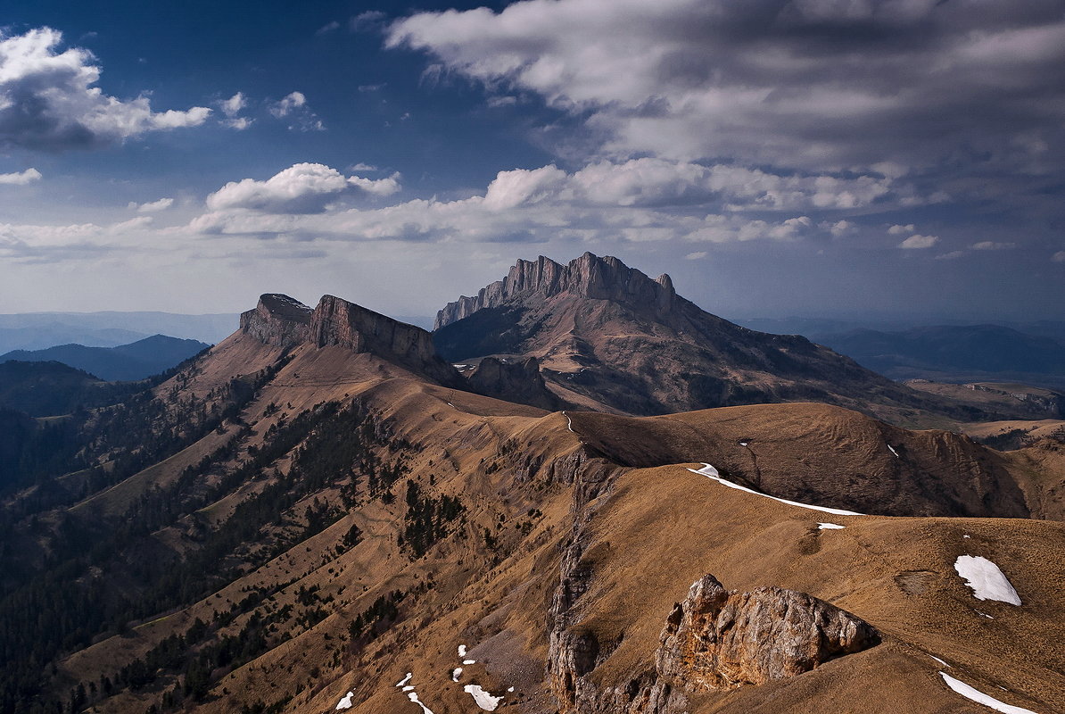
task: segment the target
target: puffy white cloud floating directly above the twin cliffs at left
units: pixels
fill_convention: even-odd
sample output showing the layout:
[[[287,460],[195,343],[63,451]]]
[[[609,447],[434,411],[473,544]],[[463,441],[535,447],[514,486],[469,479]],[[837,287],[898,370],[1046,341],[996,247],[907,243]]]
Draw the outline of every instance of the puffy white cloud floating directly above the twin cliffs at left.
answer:
[[[316,163],[295,164],[265,181],[244,179],[227,183],[207,198],[212,211],[248,209],[262,213],[321,213],[353,189],[387,196],[399,191],[399,175],[384,179],[345,177]]]

